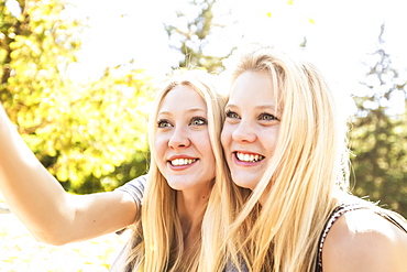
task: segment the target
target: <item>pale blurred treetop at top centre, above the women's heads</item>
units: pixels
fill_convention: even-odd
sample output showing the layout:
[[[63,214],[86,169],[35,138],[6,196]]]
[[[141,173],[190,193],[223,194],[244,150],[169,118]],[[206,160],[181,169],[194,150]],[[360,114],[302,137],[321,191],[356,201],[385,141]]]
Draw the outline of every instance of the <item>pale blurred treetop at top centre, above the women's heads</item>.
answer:
[[[221,61],[230,56],[234,48],[223,56],[206,54],[210,35],[223,28],[215,22],[216,2],[216,0],[191,0],[188,2],[189,8],[184,9],[189,13],[177,11],[177,25],[165,25],[170,47],[183,54],[179,67],[198,66],[217,73],[224,69]]]

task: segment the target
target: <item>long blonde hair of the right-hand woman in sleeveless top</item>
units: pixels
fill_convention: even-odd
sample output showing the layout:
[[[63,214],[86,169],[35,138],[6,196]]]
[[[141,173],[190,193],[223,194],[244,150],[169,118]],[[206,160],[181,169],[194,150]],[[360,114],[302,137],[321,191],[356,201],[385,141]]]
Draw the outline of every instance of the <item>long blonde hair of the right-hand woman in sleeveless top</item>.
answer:
[[[228,181],[215,186],[213,205],[226,208],[208,209],[229,216],[218,226],[227,233],[212,239],[226,246],[208,248],[207,258],[213,252],[218,264],[229,259],[238,268],[245,262],[249,271],[315,271],[319,236],[338,205],[334,192],[348,189],[344,127],[337,126],[332,94],[311,64],[273,48],[256,47],[232,65],[232,83],[248,70],[270,75],[282,122],[270,166],[250,196]]]

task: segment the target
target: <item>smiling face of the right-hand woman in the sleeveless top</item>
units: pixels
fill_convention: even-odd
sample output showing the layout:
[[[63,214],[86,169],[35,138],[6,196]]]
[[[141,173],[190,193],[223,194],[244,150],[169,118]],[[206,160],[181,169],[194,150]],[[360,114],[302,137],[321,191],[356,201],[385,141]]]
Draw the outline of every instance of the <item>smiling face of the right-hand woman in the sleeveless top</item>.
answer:
[[[265,72],[241,74],[226,112],[221,141],[233,182],[254,189],[274,154],[279,131],[271,77]]]

